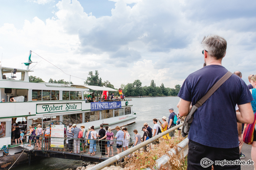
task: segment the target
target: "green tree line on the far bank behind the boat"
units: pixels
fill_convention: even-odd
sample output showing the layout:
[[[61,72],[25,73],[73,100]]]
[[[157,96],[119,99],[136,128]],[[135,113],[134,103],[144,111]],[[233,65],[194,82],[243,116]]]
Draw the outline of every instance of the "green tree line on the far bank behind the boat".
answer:
[[[108,80],[102,82],[102,79],[99,77],[98,70],[95,70],[95,75],[92,71],[89,72],[89,77],[87,77],[86,81],[84,82],[85,85],[96,85],[101,87],[109,87],[114,88]],[[44,82],[41,78],[36,76],[29,76],[30,82]],[[68,84],[69,82],[61,80],[53,80],[49,79],[51,83],[63,83]],[[70,84],[73,84],[70,82]],[[164,84],[162,83],[161,86],[156,86],[154,80],[151,80],[150,86],[142,87],[142,82],[140,80],[135,80],[133,83],[128,83],[127,85],[121,84],[120,88],[123,89],[123,94],[128,96],[177,96],[180,91],[180,85],[175,85],[174,88],[165,88]],[[118,90],[118,88],[114,88]],[[110,91],[109,91],[110,93]],[[114,91],[115,95],[119,96],[118,91]]]

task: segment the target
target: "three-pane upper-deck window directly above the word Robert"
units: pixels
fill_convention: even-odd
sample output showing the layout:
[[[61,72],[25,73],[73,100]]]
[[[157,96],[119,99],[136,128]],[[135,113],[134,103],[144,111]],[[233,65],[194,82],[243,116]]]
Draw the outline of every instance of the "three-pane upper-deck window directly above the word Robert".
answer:
[[[32,90],[32,100],[59,100],[59,93],[55,90]]]

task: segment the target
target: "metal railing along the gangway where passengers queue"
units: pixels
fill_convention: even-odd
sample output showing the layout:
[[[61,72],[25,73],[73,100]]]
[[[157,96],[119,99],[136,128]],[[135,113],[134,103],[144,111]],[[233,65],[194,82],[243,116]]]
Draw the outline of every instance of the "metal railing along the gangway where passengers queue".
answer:
[[[47,153],[48,151],[60,151],[60,152],[69,152],[69,153],[78,153],[81,155],[88,154],[91,152],[89,149],[92,149],[93,147],[96,148],[96,152],[100,153],[100,148],[105,148],[105,152],[107,153],[107,142],[114,142],[114,144],[110,145],[110,155],[112,154],[112,148],[113,148],[113,154],[117,154],[117,142],[121,142],[123,145],[123,141],[119,140],[100,140],[98,139],[80,139],[80,138],[61,138],[61,137],[48,137],[48,136],[41,136],[42,140],[37,139],[36,137],[40,136],[32,136],[32,144],[34,145],[33,150],[41,150],[43,153]],[[95,141],[95,142],[92,142]],[[132,142],[132,140],[130,140]],[[91,144],[92,143],[92,144]],[[102,144],[101,144],[102,143]],[[94,145],[93,145],[94,144]],[[129,147],[132,146],[132,143],[129,144]],[[94,148],[94,149],[95,149]],[[76,149],[76,151],[75,151]],[[123,147],[120,148],[121,151],[123,151]]]

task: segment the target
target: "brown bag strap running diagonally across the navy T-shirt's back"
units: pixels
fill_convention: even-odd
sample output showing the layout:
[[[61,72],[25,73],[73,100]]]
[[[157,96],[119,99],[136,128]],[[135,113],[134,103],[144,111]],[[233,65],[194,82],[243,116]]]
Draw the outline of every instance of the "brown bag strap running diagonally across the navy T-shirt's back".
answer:
[[[196,102],[195,106],[198,108],[202,106],[202,104],[232,75],[230,71],[228,71],[224,76],[222,76],[213,86],[212,88],[202,97],[198,102]]]

